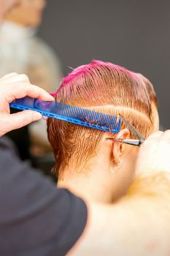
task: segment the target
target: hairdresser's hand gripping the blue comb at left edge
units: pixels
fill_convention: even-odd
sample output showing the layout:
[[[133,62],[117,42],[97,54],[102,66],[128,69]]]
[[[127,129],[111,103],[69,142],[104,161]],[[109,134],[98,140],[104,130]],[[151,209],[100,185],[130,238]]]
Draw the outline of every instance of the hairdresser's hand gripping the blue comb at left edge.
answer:
[[[42,118],[40,113],[32,110],[10,114],[9,103],[25,96],[53,100],[45,90],[31,85],[26,75],[11,73],[0,79],[0,136]]]

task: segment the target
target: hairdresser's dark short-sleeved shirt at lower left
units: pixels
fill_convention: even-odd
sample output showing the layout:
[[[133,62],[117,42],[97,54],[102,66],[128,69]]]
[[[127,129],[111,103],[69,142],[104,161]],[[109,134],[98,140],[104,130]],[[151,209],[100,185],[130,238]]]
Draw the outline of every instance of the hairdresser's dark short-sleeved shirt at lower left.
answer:
[[[0,138],[0,255],[66,255],[85,228],[85,203],[20,162],[3,140]]]

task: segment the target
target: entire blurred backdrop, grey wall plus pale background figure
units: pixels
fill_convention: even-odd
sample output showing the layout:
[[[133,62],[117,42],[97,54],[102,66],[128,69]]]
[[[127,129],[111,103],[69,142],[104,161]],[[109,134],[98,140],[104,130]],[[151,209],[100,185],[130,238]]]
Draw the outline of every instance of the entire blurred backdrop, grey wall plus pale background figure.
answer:
[[[26,73],[50,92],[70,68],[93,59],[111,61],[151,80],[161,125],[168,129],[169,10],[167,0],[20,0],[0,30],[0,75]],[[49,173],[54,160],[45,121],[8,136],[21,159]]]

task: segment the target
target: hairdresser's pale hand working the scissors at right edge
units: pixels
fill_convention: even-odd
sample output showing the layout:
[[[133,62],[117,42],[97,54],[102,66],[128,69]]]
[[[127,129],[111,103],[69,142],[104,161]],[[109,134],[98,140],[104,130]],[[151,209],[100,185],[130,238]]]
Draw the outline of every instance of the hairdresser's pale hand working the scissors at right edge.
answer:
[[[144,141],[136,161],[136,174],[170,173],[170,130],[154,132]]]

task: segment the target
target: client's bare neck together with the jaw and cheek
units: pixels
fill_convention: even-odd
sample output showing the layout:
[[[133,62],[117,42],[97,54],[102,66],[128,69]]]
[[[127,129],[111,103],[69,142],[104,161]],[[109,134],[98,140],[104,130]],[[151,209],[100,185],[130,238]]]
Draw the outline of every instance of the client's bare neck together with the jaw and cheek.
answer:
[[[130,148],[122,155],[123,165],[115,173],[111,171],[106,152],[91,159],[81,171],[74,169],[74,163],[70,164],[63,170],[64,176],[59,178],[58,186],[65,187],[88,201],[113,203],[125,195],[131,184],[136,159],[136,153],[133,152]]]

